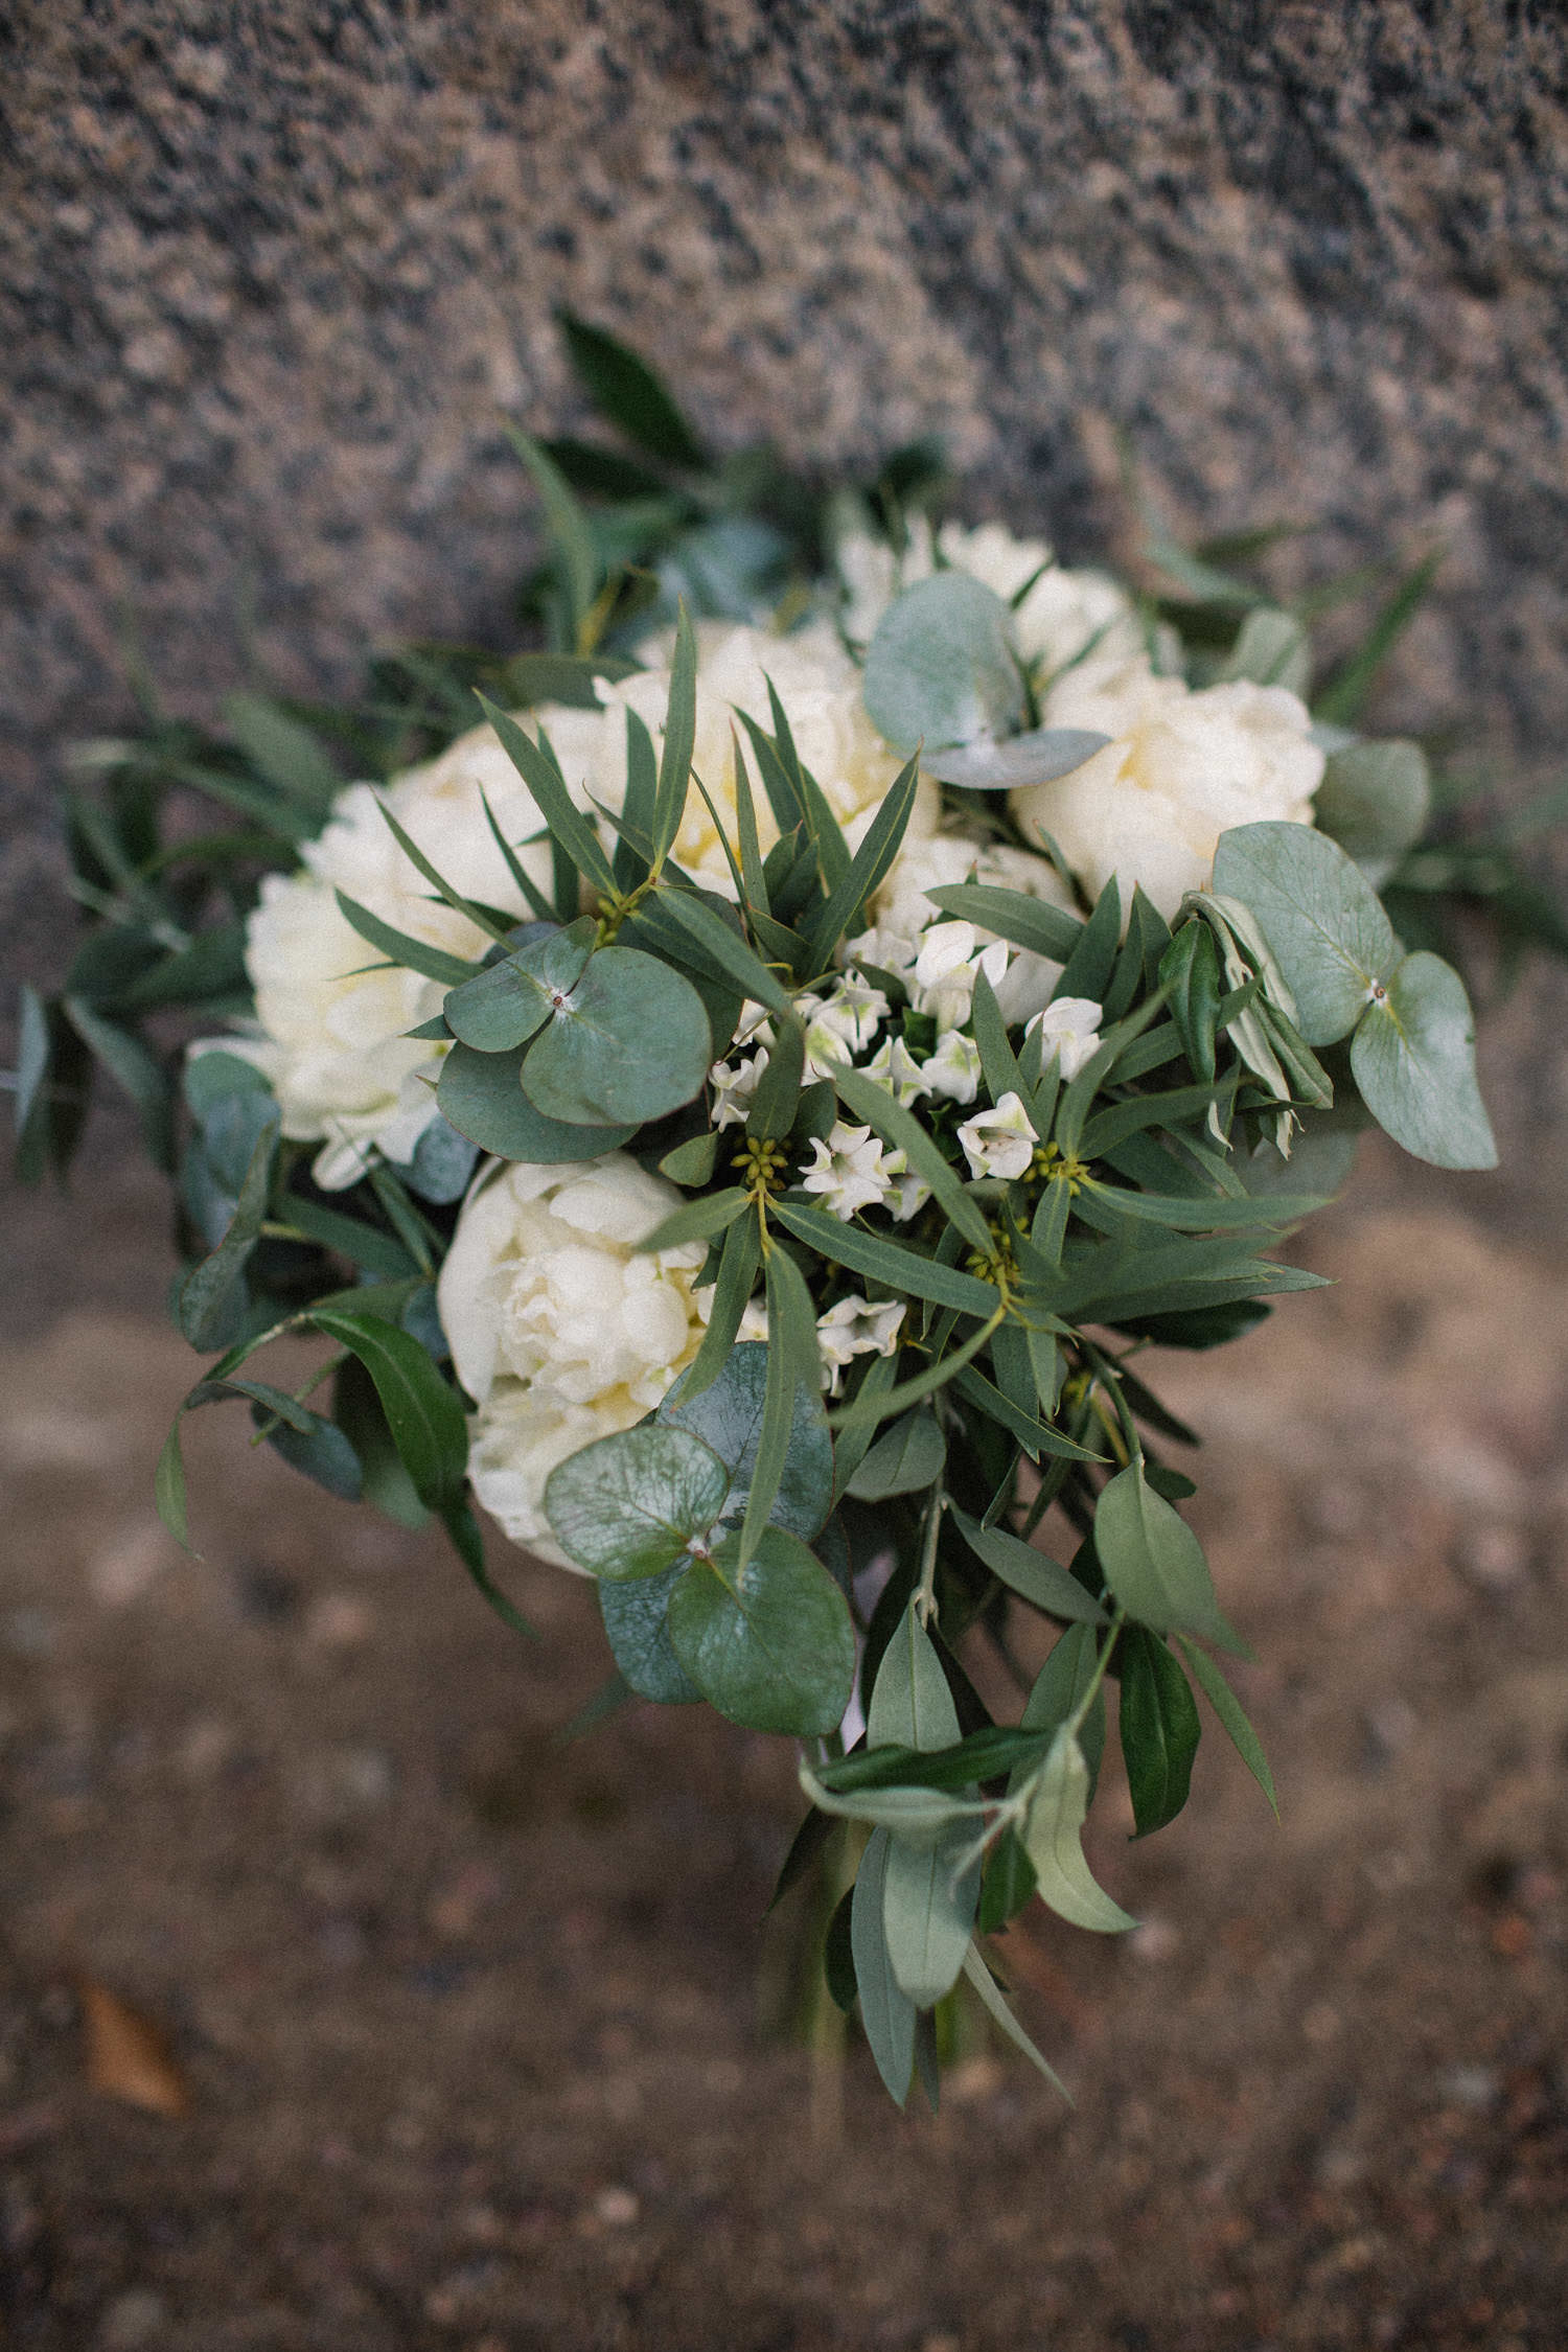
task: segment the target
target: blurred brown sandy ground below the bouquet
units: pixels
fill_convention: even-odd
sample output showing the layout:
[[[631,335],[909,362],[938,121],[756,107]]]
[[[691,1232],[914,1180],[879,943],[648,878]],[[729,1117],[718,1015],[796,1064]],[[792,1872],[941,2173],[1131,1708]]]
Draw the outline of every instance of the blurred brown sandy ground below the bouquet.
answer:
[[[1143,1926],[1001,1947],[1072,2110],[973,2032],[936,2119],[856,2042],[813,2082],[759,1926],[790,1748],[559,1745],[607,1665],[571,1578],[515,1564],[515,1642],[233,1411],[188,1559],[188,1350],[7,1345],[0,2343],[1559,2352],[1568,1272],[1387,1181],[1305,1254],[1333,1291],[1161,1367],[1284,1825],[1218,1736],[1147,1844],[1107,1785]],[[94,2032],[183,2110],[94,2089]]]

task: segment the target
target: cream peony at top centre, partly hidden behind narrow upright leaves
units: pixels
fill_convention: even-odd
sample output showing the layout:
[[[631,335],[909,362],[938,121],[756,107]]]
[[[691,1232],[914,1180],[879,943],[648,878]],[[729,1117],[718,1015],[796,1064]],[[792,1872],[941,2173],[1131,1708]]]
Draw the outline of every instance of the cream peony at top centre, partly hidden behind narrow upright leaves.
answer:
[[[736,734],[745,753],[764,851],[778,840],[778,826],[757,774],[757,757],[736,720],[736,713],[745,710],[769,734],[773,731],[769,677],[790,720],[802,764],[820,783],[827,807],[856,847],[903,760],[886,748],[865,715],[860,670],[839,644],[837,633],[825,621],[802,628],[792,637],[776,637],[764,628],[743,628],[731,621],[698,621],[696,642],[696,750],[691,767],[708,786],[731,849],[738,844]],[[672,637],[656,637],[639,647],[639,659],[651,661],[654,668],[623,677],[618,684],[602,682],[599,710],[550,706],[538,713],[574,793],[581,788],[607,809],[621,807],[625,800],[625,713],[635,710],[654,736],[654,746],[663,746],[670,656]],[[938,795],[929,779],[922,783],[922,795],[929,804],[924,821],[931,828]],[[733,898],[736,884],[719,828],[696,783],[686,793],[686,809],[675,835],[675,858],[710,889]]]

